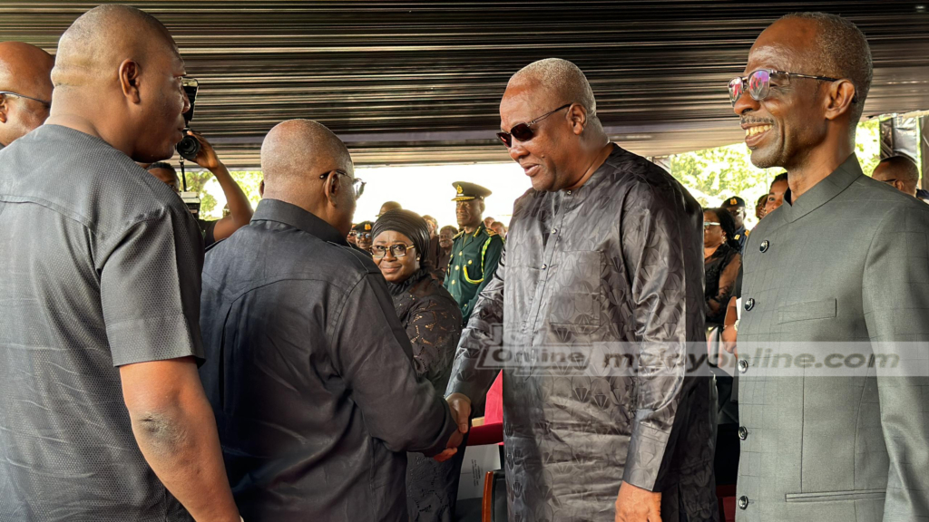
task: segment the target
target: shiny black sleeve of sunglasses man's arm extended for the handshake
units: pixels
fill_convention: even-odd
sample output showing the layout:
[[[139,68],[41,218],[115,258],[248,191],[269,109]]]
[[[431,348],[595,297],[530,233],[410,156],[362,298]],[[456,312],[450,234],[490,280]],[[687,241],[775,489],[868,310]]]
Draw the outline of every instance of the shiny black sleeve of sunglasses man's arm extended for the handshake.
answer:
[[[504,328],[504,280],[506,249],[500,241],[501,252],[491,281],[478,294],[477,304],[458,343],[455,361],[451,366],[451,380],[445,390],[446,397],[461,393],[471,400],[471,411],[482,411],[497,378],[499,368],[483,364],[484,355],[494,347],[502,346]],[[485,280],[488,281],[485,275]]]

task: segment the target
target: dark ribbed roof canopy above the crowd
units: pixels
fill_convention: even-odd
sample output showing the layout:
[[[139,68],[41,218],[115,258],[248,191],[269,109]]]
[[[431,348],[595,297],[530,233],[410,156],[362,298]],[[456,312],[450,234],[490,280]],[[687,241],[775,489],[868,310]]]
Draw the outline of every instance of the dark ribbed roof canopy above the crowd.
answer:
[[[866,114],[929,108],[922,2],[123,2],[174,34],[201,81],[194,126],[236,167],[268,129],[326,124],[357,163],[509,161],[493,133],[509,76],[534,59],[577,63],[624,147],[662,155],[738,142],[726,82],[765,26],[797,10],[868,35]],[[0,3],[0,40],[50,52],[98,2]]]

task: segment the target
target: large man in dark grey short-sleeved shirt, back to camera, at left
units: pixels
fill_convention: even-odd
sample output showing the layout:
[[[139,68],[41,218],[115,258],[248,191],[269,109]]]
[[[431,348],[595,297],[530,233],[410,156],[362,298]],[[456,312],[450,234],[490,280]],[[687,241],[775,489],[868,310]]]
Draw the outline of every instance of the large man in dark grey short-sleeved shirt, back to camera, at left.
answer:
[[[0,151],[4,522],[240,520],[194,363],[200,234],[134,161],[181,137],[171,47],[137,9],[88,12],[61,37],[47,123]]]

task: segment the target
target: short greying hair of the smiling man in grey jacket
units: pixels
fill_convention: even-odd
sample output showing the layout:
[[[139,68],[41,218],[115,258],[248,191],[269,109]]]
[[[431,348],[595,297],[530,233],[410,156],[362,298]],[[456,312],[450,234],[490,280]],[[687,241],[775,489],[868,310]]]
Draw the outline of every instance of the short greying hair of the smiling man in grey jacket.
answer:
[[[833,78],[846,78],[855,85],[857,103],[852,106],[852,123],[857,124],[868,98],[873,63],[870,46],[864,33],[852,23],[838,15],[830,13],[791,13],[780,20],[809,20],[817,25],[814,43],[813,67],[818,74]]]

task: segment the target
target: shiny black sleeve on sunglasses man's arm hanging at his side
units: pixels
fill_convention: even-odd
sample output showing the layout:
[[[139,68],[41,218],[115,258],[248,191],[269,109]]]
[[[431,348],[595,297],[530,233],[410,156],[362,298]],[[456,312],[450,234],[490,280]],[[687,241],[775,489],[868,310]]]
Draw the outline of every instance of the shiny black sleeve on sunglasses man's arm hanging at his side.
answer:
[[[674,189],[642,184],[623,204],[622,259],[639,344],[636,412],[622,479],[652,490],[684,395],[687,318],[703,316],[702,238]],[[691,226],[693,225],[693,226]],[[693,266],[690,266],[693,265]],[[687,285],[699,285],[689,289]],[[699,299],[699,300],[698,300]]]

